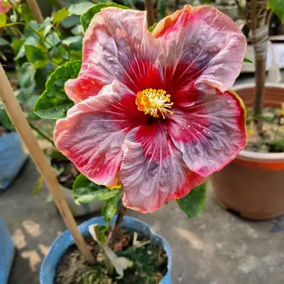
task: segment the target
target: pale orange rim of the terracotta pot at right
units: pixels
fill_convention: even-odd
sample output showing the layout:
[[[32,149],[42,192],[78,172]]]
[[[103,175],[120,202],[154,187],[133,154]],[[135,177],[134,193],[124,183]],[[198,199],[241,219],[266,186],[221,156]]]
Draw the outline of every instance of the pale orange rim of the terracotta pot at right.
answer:
[[[251,89],[255,87],[255,82],[238,84],[233,87],[234,91],[237,93],[241,89]],[[283,89],[284,84],[282,83],[266,83],[266,87]],[[284,97],[284,94],[283,94]],[[284,153],[258,153],[248,150],[242,150],[237,156],[239,160],[249,160],[253,162],[262,162],[262,163],[284,163]]]

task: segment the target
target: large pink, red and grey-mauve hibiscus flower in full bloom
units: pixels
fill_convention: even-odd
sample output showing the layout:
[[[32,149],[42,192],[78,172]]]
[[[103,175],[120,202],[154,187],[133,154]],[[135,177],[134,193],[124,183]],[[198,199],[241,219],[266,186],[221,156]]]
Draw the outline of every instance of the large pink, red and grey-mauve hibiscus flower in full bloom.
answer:
[[[244,106],[228,89],[246,38],[217,9],[187,5],[153,33],[146,12],[102,9],[82,52],[55,145],[89,180],[119,178],[126,207],[153,212],[182,198],[244,148]]]

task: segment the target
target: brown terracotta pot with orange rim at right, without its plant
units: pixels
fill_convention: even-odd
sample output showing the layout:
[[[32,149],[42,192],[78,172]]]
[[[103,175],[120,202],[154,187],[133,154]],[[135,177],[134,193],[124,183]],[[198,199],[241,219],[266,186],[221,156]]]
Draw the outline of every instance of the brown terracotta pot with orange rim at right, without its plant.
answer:
[[[252,105],[254,84],[234,88],[246,106]],[[266,84],[265,105],[280,107],[284,84]],[[284,214],[284,153],[243,150],[211,177],[214,196],[226,209],[249,219],[271,219]]]

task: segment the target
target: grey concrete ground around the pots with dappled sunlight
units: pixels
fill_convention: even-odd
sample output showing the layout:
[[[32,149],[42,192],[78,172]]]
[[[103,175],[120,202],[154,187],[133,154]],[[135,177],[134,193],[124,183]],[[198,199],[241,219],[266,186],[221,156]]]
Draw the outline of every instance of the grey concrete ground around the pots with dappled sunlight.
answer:
[[[29,160],[9,190],[0,195],[0,215],[17,247],[9,284],[39,283],[40,262],[65,230],[53,203],[45,202],[47,187],[43,185],[33,197],[38,176]],[[147,222],[170,242],[173,284],[284,281],[284,217],[266,222],[241,219],[222,210],[210,190],[198,219],[187,219],[175,201],[153,214],[128,214]]]

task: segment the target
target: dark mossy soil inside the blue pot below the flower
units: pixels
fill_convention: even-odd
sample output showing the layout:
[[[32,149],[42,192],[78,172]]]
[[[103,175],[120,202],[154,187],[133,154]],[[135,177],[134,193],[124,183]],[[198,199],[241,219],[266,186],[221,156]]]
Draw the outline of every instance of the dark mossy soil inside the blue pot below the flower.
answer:
[[[147,240],[138,234],[138,241]],[[133,267],[124,271],[122,279],[107,274],[99,245],[91,238],[86,241],[96,263],[89,265],[77,246],[70,246],[58,264],[55,284],[158,284],[167,273],[168,258],[165,251],[152,243],[140,248],[133,246],[133,231],[121,229],[120,236],[111,248],[118,256],[133,261]]]

